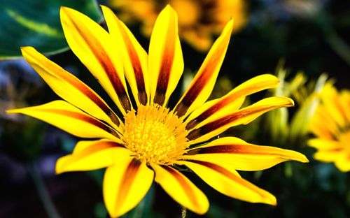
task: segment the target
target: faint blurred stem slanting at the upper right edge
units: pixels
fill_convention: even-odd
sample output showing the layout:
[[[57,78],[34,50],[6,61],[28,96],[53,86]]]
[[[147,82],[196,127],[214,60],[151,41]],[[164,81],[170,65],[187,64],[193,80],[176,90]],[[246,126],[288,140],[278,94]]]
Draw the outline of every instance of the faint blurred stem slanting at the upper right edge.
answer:
[[[349,45],[347,45],[346,42],[340,38],[336,31],[330,31],[326,36],[326,40],[329,43],[330,47],[350,66]]]

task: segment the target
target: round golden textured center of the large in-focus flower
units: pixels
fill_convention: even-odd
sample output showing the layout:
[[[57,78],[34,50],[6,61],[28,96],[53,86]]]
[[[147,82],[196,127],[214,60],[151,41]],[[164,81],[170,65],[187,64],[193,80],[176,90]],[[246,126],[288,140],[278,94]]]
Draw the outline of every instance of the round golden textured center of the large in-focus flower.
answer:
[[[185,127],[169,108],[141,105],[125,115],[123,141],[139,161],[171,165],[188,147]]]

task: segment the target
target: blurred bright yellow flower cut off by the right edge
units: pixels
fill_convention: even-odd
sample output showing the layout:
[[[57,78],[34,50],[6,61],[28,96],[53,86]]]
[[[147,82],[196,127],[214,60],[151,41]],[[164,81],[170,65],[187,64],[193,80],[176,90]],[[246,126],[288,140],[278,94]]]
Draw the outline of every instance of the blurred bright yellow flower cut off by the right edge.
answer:
[[[314,158],[334,162],[343,172],[350,170],[350,92],[337,92],[332,83],[326,83],[321,103],[311,119],[311,131],[316,138],[309,145],[316,148]]]

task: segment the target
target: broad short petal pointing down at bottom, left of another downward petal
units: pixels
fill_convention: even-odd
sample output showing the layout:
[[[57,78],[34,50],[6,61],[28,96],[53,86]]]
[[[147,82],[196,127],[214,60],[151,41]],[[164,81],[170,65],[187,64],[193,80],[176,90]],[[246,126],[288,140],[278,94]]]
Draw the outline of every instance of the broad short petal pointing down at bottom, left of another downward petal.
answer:
[[[136,159],[109,166],[104,174],[104,203],[111,217],[132,210],[150,189],[154,172]]]

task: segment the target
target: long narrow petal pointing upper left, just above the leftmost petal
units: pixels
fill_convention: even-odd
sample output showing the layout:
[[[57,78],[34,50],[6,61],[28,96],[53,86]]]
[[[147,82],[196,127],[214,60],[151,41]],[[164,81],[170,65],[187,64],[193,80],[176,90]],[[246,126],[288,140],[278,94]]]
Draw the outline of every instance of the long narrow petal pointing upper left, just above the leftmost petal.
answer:
[[[45,80],[51,89],[62,99],[88,114],[102,119],[114,128],[120,121],[116,114],[107,106],[90,87],[78,80],[74,75],[47,59],[32,47],[21,48],[23,57]]]

